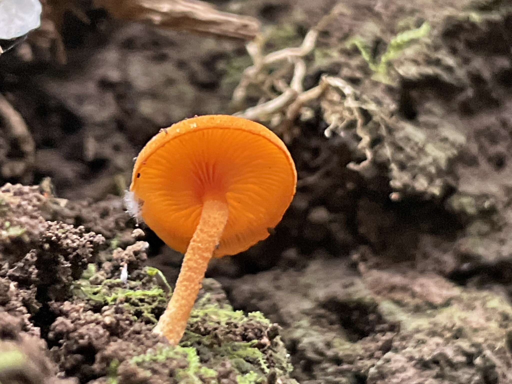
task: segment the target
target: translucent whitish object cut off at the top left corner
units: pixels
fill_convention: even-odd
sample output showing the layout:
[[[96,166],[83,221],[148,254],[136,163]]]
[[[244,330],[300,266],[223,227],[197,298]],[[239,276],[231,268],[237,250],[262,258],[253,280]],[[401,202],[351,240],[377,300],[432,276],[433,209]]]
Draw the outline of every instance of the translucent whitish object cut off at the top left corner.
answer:
[[[0,0],[0,39],[23,36],[41,25],[39,0]]]

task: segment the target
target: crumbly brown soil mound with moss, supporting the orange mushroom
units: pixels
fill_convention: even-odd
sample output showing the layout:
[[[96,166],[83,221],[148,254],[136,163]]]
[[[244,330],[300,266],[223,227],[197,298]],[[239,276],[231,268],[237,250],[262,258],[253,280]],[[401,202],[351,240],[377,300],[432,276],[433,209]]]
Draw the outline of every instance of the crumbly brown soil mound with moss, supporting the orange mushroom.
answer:
[[[9,256],[0,271],[0,300],[7,297],[0,328],[5,325],[8,338],[0,345],[0,371],[13,368],[20,377],[38,377],[32,368],[39,376],[39,368],[46,376],[54,376],[55,368],[72,381],[90,384],[220,384],[237,376],[258,382],[267,381],[272,371],[283,383],[295,384],[278,328],[260,313],[233,311],[219,283],[203,281],[187,336],[182,345],[170,347],[153,330],[172,290],[158,269],[144,267],[147,243],[113,250],[84,227],[46,221],[39,207],[47,198],[38,187],[7,185],[0,198],[8,208],[0,216],[0,232],[28,236],[28,242],[11,242],[0,234],[0,253]],[[120,237],[113,230],[109,239]],[[45,338],[58,367],[41,353],[46,343],[38,343],[29,322],[43,305],[35,298],[39,288],[51,321]],[[11,351],[18,341],[23,355]]]

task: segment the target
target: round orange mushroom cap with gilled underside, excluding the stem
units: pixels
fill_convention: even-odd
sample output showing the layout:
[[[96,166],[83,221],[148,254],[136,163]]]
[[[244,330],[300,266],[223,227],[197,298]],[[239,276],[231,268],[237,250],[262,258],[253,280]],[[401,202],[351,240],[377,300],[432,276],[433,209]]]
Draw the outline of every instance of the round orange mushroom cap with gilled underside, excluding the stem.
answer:
[[[142,148],[130,191],[144,222],[184,253],[203,202],[219,199],[229,215],[214,257],[264,240],[295,194],[297,173],[285,144],[241,117],[207,115],[161,130]]]

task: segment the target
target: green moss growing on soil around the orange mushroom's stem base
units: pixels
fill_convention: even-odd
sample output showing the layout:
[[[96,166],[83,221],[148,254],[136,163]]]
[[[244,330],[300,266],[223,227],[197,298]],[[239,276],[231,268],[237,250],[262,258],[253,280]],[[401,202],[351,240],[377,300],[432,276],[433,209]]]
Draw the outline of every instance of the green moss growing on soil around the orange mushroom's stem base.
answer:
[[[92,284],[91,277],[98,272],[96,266],[90,264],[72,291],[76,297],[89,301],[92,305],[97,303],[100,306],[109,306],[122,303],[135,319],[156,323],[155,314],[161,313],[167,306],[169,295],[165,292],[165,287],[162,289],[158,285],[157,278],[161,275],[158,269],[146,267],[143,271],[147,274],[143,281],[122,282],[120,279],[106,279],[101,284]],[[161,278],[165,282],[163,275]],[[165,285],[170,288],[167,282]],[[268,319],[260,312],[252,312],[246,316],[243,311],[233,311],[228,304],[219,304],[217,289],[220,286],[216,282],[205,280],[204,290],[207,293],[196,302],[180,346],[157,347],[134,356],[123,364],[136,365],[142,370],[142,374],[151,375],[154,365],[171,364],[173,360],[173,364],[176,364],[176,360],[179,360],[175,376],[184,384],[218,384],[216,367],[226,361],[229,361],[231,369],[242,383],[262,382],[270,372],[270,367],[279,374],[288,375],[292,366],[279,336],[264,350],[259,349],[259,340],[240,341],[238,332],[246,328],[264,331],[271,324]],[[240,326],[242,324],[243,327]],[[190,329],[202,331],[198,334]],[[236,337],[237,341],[233,341],[232,337]],[[107,375],[108,384],[117,384],[118,366],[117,361],[111,362]]]

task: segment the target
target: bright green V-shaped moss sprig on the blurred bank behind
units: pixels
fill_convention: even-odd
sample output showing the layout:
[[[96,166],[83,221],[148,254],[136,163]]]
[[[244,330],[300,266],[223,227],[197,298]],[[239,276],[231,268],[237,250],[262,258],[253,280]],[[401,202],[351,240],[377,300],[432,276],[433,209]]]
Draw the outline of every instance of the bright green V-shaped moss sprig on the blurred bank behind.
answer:
[[[404,49],[409,47],[414,41],[426,36],[430,32],[430,24],[423,23],[421,27],[404,31],[396,35],[388,44],[386,52],[384,52],[380,59],[377,60],[373,57],[371,47],[360,37],[354,37],[349,41],[349,47],[355,46],[361,56],[368,63],[370,69],[374,72],[373,79],[383,82],[390,83],[388,76],[388,69],[391,60],[401,55]]]

